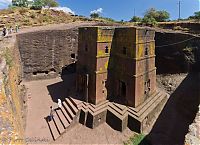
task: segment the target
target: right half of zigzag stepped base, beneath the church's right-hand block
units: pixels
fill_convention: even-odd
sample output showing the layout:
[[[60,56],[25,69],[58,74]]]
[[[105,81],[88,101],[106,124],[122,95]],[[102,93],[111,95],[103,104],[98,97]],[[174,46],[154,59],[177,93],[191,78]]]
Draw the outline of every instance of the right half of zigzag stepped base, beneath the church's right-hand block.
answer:
[[[159,114],[168,95],[162,91],[155,91],[143,104],[134,108],[110,102],[108,105],[106,122],[116,130],[123,131],[128,127],[136,132],[144,132]]]

